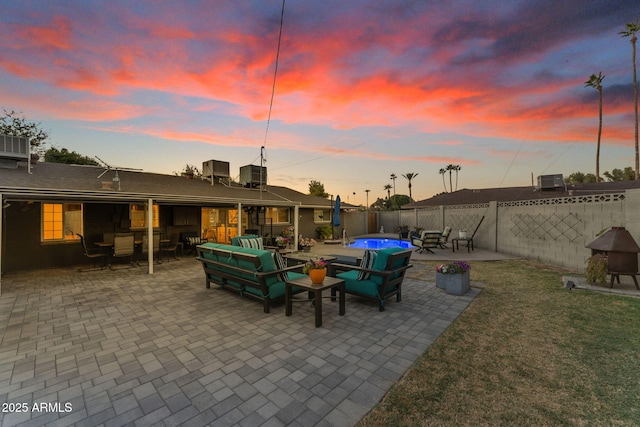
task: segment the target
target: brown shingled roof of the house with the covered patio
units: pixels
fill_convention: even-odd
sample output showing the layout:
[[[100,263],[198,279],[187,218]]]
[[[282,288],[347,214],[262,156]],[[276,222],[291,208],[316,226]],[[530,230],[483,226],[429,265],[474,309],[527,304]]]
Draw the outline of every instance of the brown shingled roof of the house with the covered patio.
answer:
[[[114,181],[114,178],[119,178]],[[0,194],[5,199],[78,200],[123,202],[154,199],[157,203],[256,206],[331,207],[328,199],[309,196],[286,187],[245,188],[237,183],[187,179],[181,176],[100,166],[39,162],[15,169],[0,168]]]

